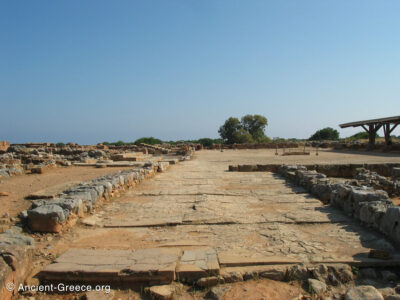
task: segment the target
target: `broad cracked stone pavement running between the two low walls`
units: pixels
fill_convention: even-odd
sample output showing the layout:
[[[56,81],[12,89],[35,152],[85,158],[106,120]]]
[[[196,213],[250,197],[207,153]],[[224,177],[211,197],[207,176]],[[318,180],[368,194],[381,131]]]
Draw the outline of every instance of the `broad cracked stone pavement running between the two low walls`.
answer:
[[[199,152],[130,190],[88,217],[84,223],[92,226],[70,241],[71,248],[86,241],[96,250],[69,250],[42,271],[42,278],[75,274],[71,280],[79,281],[84,277],[79,274],[92,272],[94,278],[112,273],[120,282],[191,281],[223,268],[400,262],[382,235],[323,205],[303,188],[272,173],[227,172],[230,163],[229,151]],[[117,228],[126,243],[104,252],[110,248],[107,236]],[[370,249],[395,255],[390,261],[368,259]]]

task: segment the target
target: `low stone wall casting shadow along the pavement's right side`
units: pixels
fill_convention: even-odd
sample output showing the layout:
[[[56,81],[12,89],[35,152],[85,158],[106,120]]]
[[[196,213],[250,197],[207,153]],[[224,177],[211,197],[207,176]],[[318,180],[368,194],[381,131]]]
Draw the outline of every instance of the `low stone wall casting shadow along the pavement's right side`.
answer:
[[[355,187],[332,183],[325,174],[305,166],[282,165],[282,176],[295,181],[325,203],[342,209],[347,215],[388,236],[400,247],[400,207],[394,206],[388,194],[372,187]]]

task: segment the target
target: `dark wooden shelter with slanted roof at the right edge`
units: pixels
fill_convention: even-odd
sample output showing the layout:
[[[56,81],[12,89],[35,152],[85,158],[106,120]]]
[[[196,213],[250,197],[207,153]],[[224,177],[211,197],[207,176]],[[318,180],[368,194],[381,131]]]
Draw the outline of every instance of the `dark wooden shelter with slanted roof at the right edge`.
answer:
[[[378,132],[378,130],[381,127],[383,127],[386,145],[391,145],[392,139],[390,137],[390,134],[399,124],[400,124],[400,116],[395,116],[395,117],[389,117],[389,118],[381,118],[381,119],[372,119],[372,120],[344,123],[344,124],[340,124],[339,126],[340,126],[340,128],[361,126],[366,132],[368,132],[370,145],[375,144],[376,133]]]

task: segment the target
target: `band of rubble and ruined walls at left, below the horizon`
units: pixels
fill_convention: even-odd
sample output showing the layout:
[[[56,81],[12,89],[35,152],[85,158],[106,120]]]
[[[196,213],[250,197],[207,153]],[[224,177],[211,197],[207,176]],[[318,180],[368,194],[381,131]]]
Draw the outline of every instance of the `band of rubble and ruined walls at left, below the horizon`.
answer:
[[[147,161],[151,159],[152,154],[161,155],[171,152],[186,156],[191,155],[193,149],[187,146],[165,148],[147,144],[109,147],[102,144],[81,146],[72,143],[67,145],[13,144],[7,146],[7,151],[0,151],[0,178],[26,172],[41,174],[46,169],[57,166],[99,164],[99,167],[102,167],[104,163],[110,164],[113,161]]]

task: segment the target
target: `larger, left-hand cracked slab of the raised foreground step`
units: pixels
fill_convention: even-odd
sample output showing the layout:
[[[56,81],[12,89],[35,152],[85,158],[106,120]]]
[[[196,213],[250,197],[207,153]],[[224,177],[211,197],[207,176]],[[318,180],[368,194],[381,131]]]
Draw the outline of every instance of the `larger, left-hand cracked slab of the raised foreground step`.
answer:
[[[172,282],[179,249],[131,250],[71,249],[47,265],[39,277],[48,282],[88,284]]]

